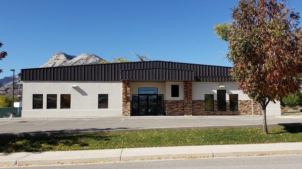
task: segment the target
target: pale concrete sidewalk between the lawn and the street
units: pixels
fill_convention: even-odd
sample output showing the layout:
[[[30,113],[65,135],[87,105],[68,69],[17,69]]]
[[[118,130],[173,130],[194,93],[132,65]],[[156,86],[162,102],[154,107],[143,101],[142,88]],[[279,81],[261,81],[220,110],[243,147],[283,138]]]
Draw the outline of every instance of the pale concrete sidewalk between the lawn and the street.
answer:
[[[302,142],[0,153],[0,165],[302,154]]]

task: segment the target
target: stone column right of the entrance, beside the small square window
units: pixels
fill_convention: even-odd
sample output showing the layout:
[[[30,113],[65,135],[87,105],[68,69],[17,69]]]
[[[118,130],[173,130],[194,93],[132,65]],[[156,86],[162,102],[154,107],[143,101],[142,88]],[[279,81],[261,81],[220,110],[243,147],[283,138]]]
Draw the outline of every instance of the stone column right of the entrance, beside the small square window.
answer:
[[[185,115],[192,115],[192,82],[185,81],[184,82],[184,111]]]

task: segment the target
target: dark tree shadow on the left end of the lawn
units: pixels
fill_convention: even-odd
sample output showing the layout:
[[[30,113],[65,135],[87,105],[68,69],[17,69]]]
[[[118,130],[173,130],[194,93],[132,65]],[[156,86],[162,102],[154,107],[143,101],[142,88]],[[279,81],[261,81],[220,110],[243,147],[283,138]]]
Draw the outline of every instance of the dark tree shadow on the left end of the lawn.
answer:
[[[78,148],[89,146],[90,140],[110,140],[105,134],[67,134],[49,136],[24,136],[24,137],[1,137],[0,152],[37,152],[51,151],[56,147],[76,146]],[[68,149],[66,149],[68,150]]]

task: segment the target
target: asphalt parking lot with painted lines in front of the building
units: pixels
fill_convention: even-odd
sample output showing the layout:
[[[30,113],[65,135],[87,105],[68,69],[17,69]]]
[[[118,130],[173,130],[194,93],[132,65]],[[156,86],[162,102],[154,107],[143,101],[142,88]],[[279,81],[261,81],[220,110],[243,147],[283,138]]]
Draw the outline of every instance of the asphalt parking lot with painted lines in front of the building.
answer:
[[[268,124],[301,123],[302,118],[268,117]],[[97,131],[161,127],[217,127],[225,125],[261,125],[262,116],[153,118],[153,119],[48,119],[0,120],[0,134],[59,131]]]

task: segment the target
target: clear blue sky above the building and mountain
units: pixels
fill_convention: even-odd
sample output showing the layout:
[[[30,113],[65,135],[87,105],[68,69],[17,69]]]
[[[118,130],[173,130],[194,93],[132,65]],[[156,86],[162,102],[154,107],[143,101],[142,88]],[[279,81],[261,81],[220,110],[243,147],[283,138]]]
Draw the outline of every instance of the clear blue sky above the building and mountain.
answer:
[[[105,60],[131,51],[152,60],[232,66],[223,58],[226,42],[213,26],[230,21],[237,0],[228,1],[0,1],[0,62],[14,68],[39,67],[56,52],[93,53]],[[302,1],[289,1],[302,13]]]

